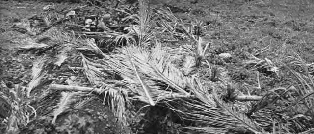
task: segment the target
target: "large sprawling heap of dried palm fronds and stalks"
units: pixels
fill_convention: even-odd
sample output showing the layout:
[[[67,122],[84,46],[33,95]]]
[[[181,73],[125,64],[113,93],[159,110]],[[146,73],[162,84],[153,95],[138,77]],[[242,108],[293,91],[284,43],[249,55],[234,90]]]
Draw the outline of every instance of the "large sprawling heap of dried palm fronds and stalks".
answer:
[[[294,55],[283,67],[276,67],[268,58],[249,54],[244,64],[252,71],[280,76],[286,70],[296,82],[260,96],[246,95],[234,89],[223,69],[207,61],[212,42],[196,34],[196,26],[169,10],[150,8],[147,0],[138,3],[134,11],[112,9],[123,16],[127,24],[123,29],[68,32],[50,28],[37,39],[27,40],[19,49],[41,58],[32,65],[28,87],[9,89],[1,84],[8,90],[0,96],[6,103],[1,107],[1,113],[6,113],[1,114],[6,118],[6,133],[14,134],[42,116],[56,124],[63,113],[88,103],[91,94],[102,98],[123,126],[132,125],[131,110],[145,113],[148,107],[163,107],[180,118],[176,133],[314,133],[313,64]],[[208,82],[216,88],[206,87],[197,73],[204,66],[213,70],[210,77],[217,82]],[[228,89],[219,89],[218,83]],[[38,105],[31,99],[35,94],[40,94],[35,100]]]

